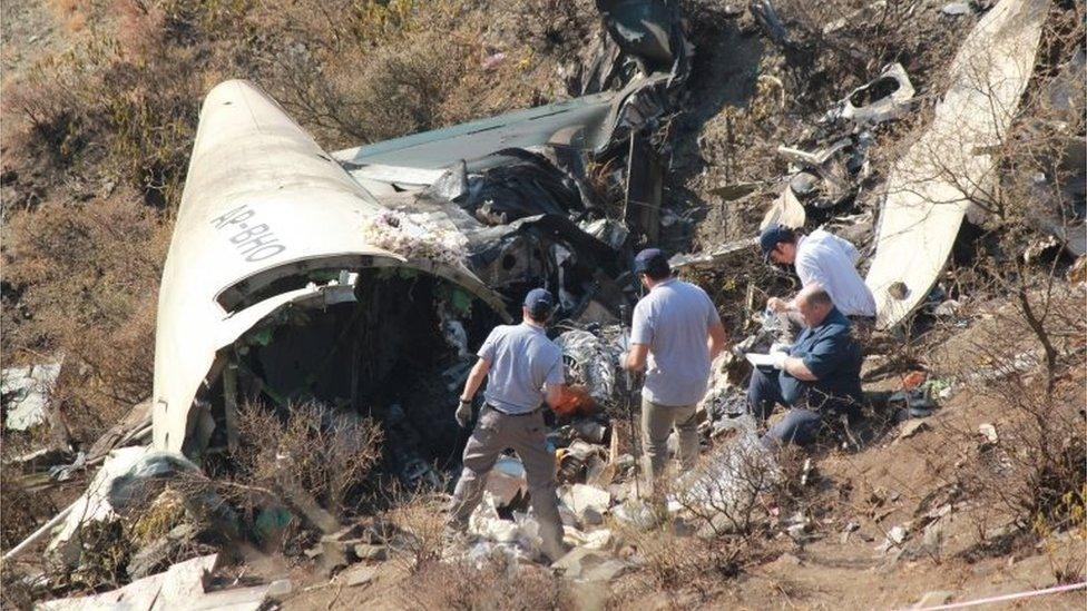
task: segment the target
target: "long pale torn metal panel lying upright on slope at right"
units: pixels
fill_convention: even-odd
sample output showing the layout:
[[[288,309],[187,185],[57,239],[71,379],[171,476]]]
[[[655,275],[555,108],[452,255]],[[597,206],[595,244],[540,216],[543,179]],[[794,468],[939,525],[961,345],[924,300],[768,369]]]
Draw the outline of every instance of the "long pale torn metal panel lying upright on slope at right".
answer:
[[[909,316],[947,264],[972,195],[1034,69],[1049,0],[1001,0],[963,41],[932,124],[893,166],[865,283],[887,328]],[[901,286],[901,297],[892,295]]]

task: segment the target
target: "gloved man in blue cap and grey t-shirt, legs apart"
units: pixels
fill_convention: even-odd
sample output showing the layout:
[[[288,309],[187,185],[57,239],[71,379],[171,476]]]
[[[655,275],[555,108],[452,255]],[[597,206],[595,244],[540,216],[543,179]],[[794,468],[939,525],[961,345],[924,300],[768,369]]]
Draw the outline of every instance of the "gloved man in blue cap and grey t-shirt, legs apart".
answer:
[[[566,394],[562,351],[548,339],[544,323],[555,298],[542,288],[525,297],[519,325],[499,325],[479,348],[479,361],[464,382],[457,422],[468,427],[472,398],[483,378],[486,405],[464,447],[464,471],[457,482],[448,528],[463,533],[468,519],[483,495],[487,474],[499,454],[512,447],[525,465],[532,509],[540,524],[544,553],[558,560],[566,553],[562,522],[555,495],[555,454],[547,449],[547,426],[541,403],[555,406]],[[546,393],[545,393],[546,388]]]

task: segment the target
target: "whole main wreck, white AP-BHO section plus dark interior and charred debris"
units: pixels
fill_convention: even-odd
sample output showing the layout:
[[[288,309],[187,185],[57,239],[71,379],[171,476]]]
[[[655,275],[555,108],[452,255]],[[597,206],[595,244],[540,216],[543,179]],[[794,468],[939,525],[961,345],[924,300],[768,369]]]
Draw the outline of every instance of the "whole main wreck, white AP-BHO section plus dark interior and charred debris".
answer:
[[[617,319],[633,250],[658,239],[650,136],[692,48],[670,2],[598,3],[613,38],[572,83],[589,95],[550,106],[330,155],[249,82],[207,95],[159,296],[155,449],[200,463],[237,446],[245,403],[317,401],[382,422],[390,467],[427,477],[463,443],[449,410],[472,348],[528,288],[560,318]]]

